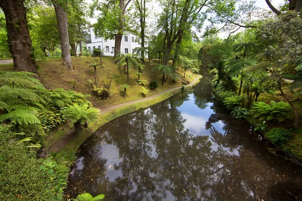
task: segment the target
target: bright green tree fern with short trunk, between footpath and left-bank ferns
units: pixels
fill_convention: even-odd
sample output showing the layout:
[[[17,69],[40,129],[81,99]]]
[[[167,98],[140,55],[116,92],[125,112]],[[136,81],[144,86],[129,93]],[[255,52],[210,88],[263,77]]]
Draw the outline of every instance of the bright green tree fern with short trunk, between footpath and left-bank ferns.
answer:
[[[83,127],[88,127],[87,122],[98,118],[99,112],[100,110],[96,108],[88,108],[88,105],[79,106],[74,104],[63,111],[63,117],[71,120],[75,133],[80,133]]]

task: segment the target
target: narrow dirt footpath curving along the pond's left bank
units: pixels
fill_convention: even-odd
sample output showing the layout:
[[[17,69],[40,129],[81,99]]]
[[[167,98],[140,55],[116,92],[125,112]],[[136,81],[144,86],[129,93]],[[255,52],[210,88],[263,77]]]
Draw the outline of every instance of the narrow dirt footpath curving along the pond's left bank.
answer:
[[[186,86],[192,86],[193,84],[195,84],[198,79],[200,78],[201,76],[197,76],[194,78],[194,80],[186,85]],[[153,99],[155,97],[158,97],[164,93],[167,93],[167,92],[170,92],[170,91],[174,91],[174,90],[177,90],[181,88],[181,86],[178,86],[178,87],[174,87],[174,88],[170,88],[170,89],[167,89],[165,91],[162,91],[160,93],[157,93],[157,94],[154,94],[154,95],[151,95],[151,96],[148,96],[146,98],[140,98],[140,99],[137,99],[137,100],[132,100],[130,102],[127,102],[127,103],[122,103],[122,104],[117,104],[117,105],[113,105],[113,106],[108,106],[106,108],[101,108],[101,114],[105,114],[105,113],[108,113],[112,110],[115,110],[117,108],[121,108],[121,107],[124,107],[124,106],[129,106],[129,105],[132,105],[132,104],[136,104],[136,103],[140,103],[140,102],[143,102],[145,100],[150,100],[150,99]],[[58,150],[61,150],[63,147],[65,147],[71,140],[73,140],[74,138],[77,138],[78,136],[77,135],[74,135],[74,129],[71,128],[69,129],[68,131],[65,132],[65,135],[59,139],[58,141],[54,142],[53,144],[51,144],[48,148],[47,148],[47,151],[58,151]]]

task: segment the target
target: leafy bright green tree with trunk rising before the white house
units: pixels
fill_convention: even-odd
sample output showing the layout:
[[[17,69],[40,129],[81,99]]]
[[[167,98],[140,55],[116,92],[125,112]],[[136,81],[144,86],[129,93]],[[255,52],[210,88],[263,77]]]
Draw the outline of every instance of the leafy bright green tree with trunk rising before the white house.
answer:
[[[106,1],[105,3],[95,1],[92,5],[93,9],[96,8],[102,12],[94,25],[94,32],[105,40],[114,38],[114,58],[121,51],[121,41],[125,31],[125,13],[130,2],[131,0]]]

